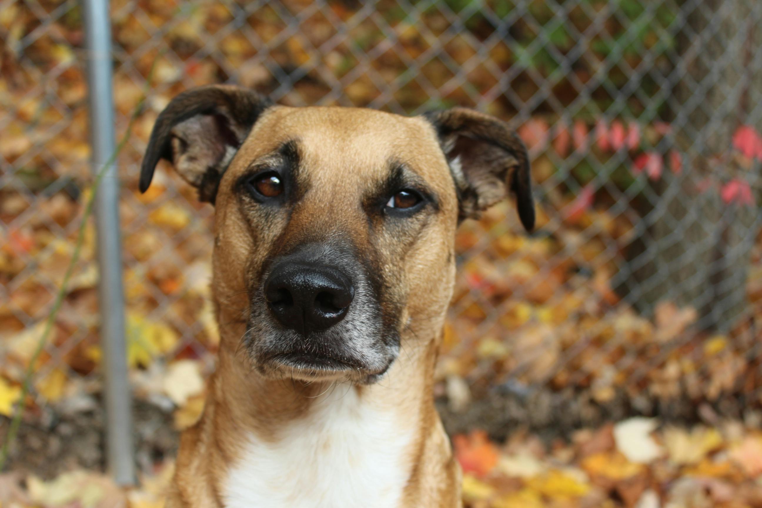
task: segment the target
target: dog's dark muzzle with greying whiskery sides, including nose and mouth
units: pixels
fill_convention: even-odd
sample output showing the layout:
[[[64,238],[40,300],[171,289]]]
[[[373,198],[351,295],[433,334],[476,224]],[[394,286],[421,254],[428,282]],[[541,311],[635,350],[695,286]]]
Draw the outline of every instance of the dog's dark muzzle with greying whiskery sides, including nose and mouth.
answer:
[[[275,254],[251,289],[246,346],[260,372],[302,379],[378,379],[399,352],[399,316],[347,244]]]

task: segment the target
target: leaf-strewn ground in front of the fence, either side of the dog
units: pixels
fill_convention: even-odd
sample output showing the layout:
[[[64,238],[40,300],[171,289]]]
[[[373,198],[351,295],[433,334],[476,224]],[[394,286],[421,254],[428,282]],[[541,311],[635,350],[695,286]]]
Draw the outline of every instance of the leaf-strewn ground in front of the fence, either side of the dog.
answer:
[[[543,442],[518,431],[504,444],[482,431],[453,437],[469,508],[754,508],[762,506],[762,432],[741,423],[690,430],[635,417]],[[44,480],[0,475],[0,506],[158,508],[171,460],[139,487],[73,470]]]

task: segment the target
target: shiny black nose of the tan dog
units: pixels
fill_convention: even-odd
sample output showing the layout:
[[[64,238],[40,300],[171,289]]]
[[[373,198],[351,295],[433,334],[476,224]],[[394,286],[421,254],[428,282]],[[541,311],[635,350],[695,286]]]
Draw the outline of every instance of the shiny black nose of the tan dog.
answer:
[[[267,277],[264,298],[280,324],[306,334],[344,319],[354,287],[333,267],[283,263]]]

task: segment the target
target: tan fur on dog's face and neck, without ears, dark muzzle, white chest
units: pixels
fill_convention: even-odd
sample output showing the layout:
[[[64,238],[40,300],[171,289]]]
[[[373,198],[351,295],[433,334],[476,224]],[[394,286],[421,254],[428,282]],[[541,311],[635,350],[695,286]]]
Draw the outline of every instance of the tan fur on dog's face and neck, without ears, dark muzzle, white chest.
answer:
[[[302,165],[309,171],[309,192],[293,210],[287,228],[268,225],[263,238],[252,238],[247,209],[232,183],[251,161],[278,145],[298,139]],[[266,379],[253,375],[240,349],[246,331],[247,280],[258,272],[272,246],[303,241],[315,232],[349,232],[368,244],[368,228],[357,199],[369,179],[382,178],[390,158],[414,168],[440,198],[435,223],[421,228],[401,248],[399,238],[376,238],[385,276],[404,285],[399,296],[415,301],[405,307],[410,327],[402,333],[402,352],[383,382],[357,386],[415,433],[410,478],[402,506],[460,506],[459,466],[434,408],[433,379],[447,305],[453,292],[453,241],[458,203],[447,161],[434,129],[421,118],[349,108],[271,107],[255,124],[233,158],[216,196],[213,299],[220,344],[216,373],[201,420],[183,433],[168,508],[223,506],[221,489],[230,465],[241,454],[247,433],[275,439],[283,423],[308,411],[320,382]],[[403,246],[405,247],[405,246]],[[420,267],[426,267],[421,270]],[[402,270],[402,273],[395,273]],[[446,274],[446,276],[442,276]]]

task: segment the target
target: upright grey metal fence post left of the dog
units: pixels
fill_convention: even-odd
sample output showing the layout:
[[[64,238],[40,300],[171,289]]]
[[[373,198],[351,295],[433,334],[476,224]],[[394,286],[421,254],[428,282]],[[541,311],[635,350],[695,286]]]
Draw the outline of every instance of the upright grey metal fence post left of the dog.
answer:
[[[114,97],[111,27],[107,0],[83,0],[88,62],[90,142],[94,174],[114,155]],[[133,426],[124,336],[124,292],[116,164],[105,172],[95,199],[101,346],[104,351],[104,401],[108,469],[119,484],[133,484]]]

